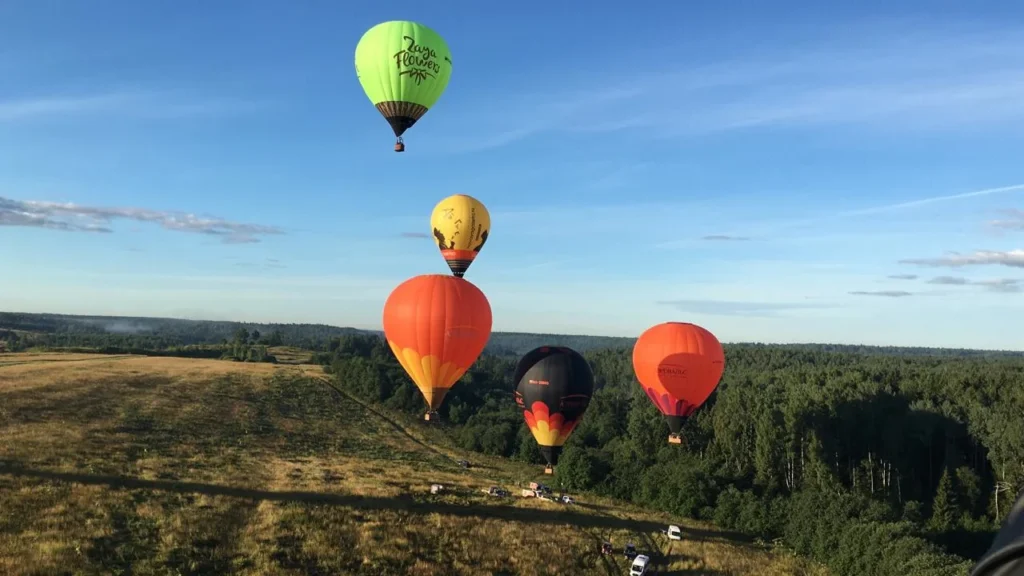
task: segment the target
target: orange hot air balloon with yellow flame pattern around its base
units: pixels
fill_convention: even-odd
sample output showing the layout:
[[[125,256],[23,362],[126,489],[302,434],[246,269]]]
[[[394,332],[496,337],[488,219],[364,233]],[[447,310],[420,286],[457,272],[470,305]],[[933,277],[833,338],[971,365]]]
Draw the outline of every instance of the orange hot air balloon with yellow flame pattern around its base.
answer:
[[[431,416],[490,337],[490,304],[467,280],[442,274],[411,278],[384,302],[384,335],[427,401]]]

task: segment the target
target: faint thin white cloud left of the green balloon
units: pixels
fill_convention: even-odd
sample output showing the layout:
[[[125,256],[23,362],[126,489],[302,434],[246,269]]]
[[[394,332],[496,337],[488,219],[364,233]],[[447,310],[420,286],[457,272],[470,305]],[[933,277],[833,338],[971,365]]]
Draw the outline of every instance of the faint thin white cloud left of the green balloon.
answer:
[[[150,119],[252,112],[262,105],[241,98],[204,97],[177,92],[114,91],[78,95],[40,95],[0,99],[0,123],[50,118],[118,115]]]

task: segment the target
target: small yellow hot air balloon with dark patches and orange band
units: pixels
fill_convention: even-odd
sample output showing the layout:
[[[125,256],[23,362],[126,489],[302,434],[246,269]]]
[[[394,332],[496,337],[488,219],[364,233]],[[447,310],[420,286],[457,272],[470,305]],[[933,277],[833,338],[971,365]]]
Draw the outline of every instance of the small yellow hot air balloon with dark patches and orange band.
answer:
[[[490,214],[479,200],[456,194],[430,214],[430,228],[452,274],[462,278],[490,234]]]

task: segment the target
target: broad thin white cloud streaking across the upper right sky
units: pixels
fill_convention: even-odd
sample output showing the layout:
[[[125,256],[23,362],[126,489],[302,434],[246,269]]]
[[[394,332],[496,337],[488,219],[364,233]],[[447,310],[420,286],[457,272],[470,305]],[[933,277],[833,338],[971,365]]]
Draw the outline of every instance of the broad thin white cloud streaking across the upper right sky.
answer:
[[[551,86],[503,104],[508,123],[492,132],[501,137],[477,138],[473,148],[550,131],[642,130],[658,137],[766,126],[930,130],[1024,120],[1019,30],[906,23],[905,30],[878,27],[840,36],[799,50],[760,48],[742,61],[674,59],[675,69],[639,71],[624,63],[614,75],[622,84],[610,87],[566,82],[559,71],[557,83],[552,79]],[[566,91],[566,84],[579,88]],[[469,116],[467,131],[494,124],[488,111]]]

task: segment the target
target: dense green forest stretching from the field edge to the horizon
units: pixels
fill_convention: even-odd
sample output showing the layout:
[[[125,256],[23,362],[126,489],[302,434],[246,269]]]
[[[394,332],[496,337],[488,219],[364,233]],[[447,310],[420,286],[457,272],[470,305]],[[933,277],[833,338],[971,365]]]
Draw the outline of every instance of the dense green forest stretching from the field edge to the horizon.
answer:
[[[709,520],[839,576],[965,574],[1024,487],[1019,353],[727,344],[678,446],[635,381],[633,339],[496,333],[442,406],[456,443],[542,462],[510,378],[546,343],[584,352],[596,379],[557,483]],[[380,334],[352,328],[0,314],[0,344],[264,362],[301,346],[353,394],[424,409]]]

